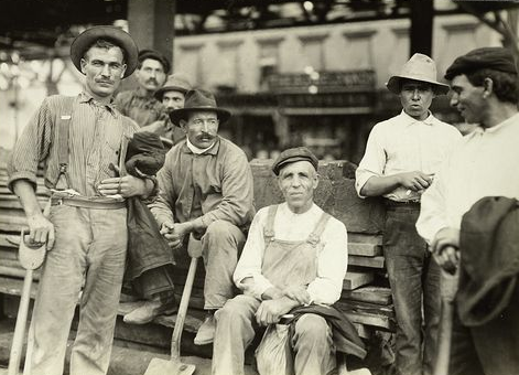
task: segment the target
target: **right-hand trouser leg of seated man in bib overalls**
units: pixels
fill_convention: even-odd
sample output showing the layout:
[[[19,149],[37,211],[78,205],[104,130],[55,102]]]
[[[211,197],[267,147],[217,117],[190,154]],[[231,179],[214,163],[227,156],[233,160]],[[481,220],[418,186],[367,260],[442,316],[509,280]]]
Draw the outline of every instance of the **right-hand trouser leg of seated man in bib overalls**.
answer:
[[[295,375],[326,375],[336,367],[332,330],[320,315],[309,313],[296,321],[292,347]]]

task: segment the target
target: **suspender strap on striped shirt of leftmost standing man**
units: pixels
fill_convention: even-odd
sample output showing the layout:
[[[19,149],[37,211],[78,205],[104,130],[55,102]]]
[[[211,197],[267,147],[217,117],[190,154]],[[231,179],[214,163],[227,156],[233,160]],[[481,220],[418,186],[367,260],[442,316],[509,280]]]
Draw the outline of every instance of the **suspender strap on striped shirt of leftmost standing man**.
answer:
[[[61,113],[57,114],[57,163],[60,174],[57,175],[56,190],[65,190],[71,186],[68,180],[68,138],[71,133],[71,120],[74,96],[63,97]]]

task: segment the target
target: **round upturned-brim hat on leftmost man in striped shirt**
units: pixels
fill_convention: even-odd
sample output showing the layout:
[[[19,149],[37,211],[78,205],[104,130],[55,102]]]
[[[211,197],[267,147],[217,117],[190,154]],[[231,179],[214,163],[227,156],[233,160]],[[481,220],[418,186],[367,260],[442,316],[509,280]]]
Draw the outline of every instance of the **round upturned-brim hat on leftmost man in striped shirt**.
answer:
[[[71,44],[71,60],[82,72],[82,58],[85,52],[99,39],[109,41],[125,51],[126,72],[128,77],[137,67],[138,49],[133,39],[126,31],[116,26],[94,26],[85,30]]]

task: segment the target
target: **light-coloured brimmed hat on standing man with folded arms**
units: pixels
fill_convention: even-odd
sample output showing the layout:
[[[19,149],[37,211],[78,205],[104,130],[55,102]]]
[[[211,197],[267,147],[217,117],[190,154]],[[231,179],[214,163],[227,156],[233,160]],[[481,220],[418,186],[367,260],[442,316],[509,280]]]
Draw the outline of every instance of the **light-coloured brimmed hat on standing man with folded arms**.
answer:
[[[450,90],[448,85],[437,82],[436,63],[428,55],[415,53],[402,66],[399,74],[389,78],[386,87],[393,94],[400,94],[400,81],[412,79],[431,84],[434,93],[439,95],[447,94]]]

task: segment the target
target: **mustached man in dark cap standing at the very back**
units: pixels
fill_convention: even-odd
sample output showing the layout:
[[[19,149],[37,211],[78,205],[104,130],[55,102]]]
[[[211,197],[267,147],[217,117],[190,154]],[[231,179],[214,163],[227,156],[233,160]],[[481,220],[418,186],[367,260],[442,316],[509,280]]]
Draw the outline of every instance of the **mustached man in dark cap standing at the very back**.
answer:
[[[125,116],[133,119],[142,130],[166,137],[171,130],[167,111],[154,97],[155,92],[164,85],[170,62],[161,53],[153,50],[139,52],[137,64],[137,82],[134,90],[119,93],[115,105]]]

